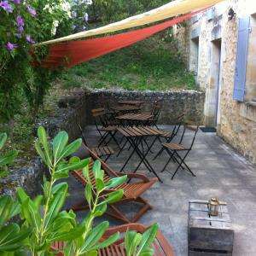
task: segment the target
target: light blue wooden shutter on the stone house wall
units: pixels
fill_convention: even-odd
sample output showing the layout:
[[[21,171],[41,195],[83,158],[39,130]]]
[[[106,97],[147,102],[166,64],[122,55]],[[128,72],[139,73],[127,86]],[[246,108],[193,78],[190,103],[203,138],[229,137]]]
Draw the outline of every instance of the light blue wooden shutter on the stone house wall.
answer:
[[[247,52],[249,32],[250,17],[239,19],[236,50],[236,70],[233,94],[233,99],[238,102],[243,102],[244,99],[244,90],[247,76]]]

